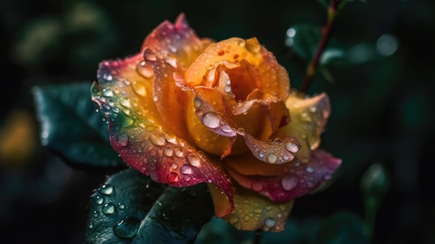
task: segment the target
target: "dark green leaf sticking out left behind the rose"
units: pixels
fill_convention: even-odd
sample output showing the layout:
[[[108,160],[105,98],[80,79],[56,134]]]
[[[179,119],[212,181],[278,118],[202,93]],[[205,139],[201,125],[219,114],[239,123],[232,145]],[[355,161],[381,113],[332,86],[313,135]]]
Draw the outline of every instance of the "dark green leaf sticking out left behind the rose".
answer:
[[[79,168],[125,165],[110,146],[90,86],[80,82],[33,88],[42,146]]]

